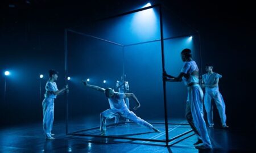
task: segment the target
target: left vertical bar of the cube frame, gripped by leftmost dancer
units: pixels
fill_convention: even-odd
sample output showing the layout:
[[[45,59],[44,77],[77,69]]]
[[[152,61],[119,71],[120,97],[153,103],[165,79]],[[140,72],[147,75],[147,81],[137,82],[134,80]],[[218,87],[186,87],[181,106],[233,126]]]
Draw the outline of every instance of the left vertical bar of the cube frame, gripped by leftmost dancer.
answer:
[[[68,30],[65,29],[64,33],[64,49],[65,49],[65,84],[68,83]],[[68,134],[68,93],[65,92],[65,102],[66,102],[66,134]]]

